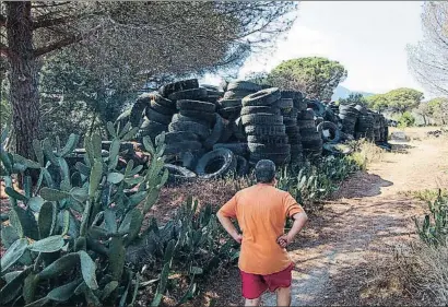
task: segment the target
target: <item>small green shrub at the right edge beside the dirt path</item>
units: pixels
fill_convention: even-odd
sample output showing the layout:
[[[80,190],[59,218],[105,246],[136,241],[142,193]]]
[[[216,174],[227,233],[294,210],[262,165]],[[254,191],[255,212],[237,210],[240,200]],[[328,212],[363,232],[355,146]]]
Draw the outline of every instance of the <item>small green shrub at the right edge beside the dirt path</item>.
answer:
[[[448,198],[441,190],[436,200],[428,201],[429,213],[423,221],[414,219],[420,238],[431,246],[446,246],[448,244]]]

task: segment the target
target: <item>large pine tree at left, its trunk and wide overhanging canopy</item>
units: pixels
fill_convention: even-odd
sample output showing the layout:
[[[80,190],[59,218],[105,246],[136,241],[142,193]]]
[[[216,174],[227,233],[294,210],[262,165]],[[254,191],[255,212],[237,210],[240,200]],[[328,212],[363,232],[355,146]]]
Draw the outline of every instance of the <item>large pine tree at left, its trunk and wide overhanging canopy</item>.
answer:
[[[8,60],[17,145],[32,155],[40,123],[40,61],[62,48],[106,87],[118,79],[238,68],[291,27],[293,1],[1,2],[0,54]],[[3,68],[4,69],[4,68]],[[4,70],[3,70],[4,72]],[[143,80],[142,80],[143,79]]]

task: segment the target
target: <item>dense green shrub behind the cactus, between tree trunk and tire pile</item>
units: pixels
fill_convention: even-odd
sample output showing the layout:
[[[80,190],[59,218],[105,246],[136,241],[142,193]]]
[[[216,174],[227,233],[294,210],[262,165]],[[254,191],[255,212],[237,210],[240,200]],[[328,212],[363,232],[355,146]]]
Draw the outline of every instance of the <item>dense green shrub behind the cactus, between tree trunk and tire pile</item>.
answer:
[[[137,97],[143,82],[125,71],[116,71],[116,78],[106,81],[67,51],[47,58],[39,83],[43,134],[67,138],[72,132],[84,135],[105,127]]]

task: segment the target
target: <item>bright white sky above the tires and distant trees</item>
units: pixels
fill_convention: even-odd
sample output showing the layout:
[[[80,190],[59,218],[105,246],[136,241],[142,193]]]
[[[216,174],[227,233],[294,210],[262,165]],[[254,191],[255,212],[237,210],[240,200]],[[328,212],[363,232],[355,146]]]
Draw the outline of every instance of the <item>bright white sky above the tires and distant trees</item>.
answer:
[[[386,93],[397,87],[423,91],[408,69],[406,45],[422,38],[423,1],[303,1],[298,17],[276,50],[249,58],[239,72],[269,71],[283,60],[321,56],[349,71],[341,85]],[[207,78],[213,82],[214,78]],[[425,93],[427,96],[427,93]]]

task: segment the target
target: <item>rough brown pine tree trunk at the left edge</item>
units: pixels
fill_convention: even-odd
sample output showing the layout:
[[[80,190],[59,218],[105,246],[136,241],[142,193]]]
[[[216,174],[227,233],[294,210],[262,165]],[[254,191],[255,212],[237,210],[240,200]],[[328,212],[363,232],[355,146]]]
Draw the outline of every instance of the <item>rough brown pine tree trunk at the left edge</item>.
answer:
[[[31,2],[5,2],[5,5],[10,49],[10,99],[15,131],[14,152],[33,158],[33,140],[38,138],[40,113]]]

